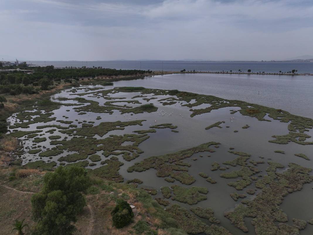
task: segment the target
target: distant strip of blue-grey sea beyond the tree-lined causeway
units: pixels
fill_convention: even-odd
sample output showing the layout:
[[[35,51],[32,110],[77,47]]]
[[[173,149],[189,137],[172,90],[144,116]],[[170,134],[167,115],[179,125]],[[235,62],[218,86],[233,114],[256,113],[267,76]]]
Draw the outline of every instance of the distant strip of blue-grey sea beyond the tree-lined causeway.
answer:
[[[115,69],[142,69],[162,71],[241,71],[246,72],[288,72],[292,69],[298,73],[313,73],[313,62],[189,62],[189,61],[31,61],[33,64],[44,66],[54,65],[55,67],[99,67]]]

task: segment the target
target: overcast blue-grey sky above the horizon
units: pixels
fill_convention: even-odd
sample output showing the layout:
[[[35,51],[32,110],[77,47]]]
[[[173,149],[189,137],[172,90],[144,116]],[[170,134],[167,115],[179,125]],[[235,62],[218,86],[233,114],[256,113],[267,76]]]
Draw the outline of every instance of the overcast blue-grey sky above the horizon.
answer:
[[[1,0],[0,22],[4,60],[313,55],[312,0]]]

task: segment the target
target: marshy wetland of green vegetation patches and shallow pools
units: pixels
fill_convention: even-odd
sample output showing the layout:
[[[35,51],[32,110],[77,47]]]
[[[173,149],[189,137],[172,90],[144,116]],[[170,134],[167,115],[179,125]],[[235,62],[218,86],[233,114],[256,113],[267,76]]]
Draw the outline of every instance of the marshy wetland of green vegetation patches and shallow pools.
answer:
[[[191,234],[313,233],[301,213],[313,204],[312,119],[139,81],[71,87],[10,116],[22,164],[135,185]]]

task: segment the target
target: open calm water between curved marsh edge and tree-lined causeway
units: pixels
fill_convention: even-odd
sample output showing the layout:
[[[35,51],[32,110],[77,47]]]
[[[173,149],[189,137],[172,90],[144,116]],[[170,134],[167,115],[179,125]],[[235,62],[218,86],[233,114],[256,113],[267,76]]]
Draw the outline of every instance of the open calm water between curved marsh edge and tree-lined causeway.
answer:
[[[114,85],[178,89],[243,100],[313,118],[313,76],[180,73],[118,81]]]

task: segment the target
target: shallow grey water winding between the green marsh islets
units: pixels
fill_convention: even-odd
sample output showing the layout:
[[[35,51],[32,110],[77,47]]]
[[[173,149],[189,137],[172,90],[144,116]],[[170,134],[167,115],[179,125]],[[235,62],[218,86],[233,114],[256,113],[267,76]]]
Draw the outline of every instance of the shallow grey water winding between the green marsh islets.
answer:
[[[174,76],[174,78],[172,77]],[[164,88],[160,85],[157,85],[157,83],[165,83],[168,82],[169,79],[173,79],[173,82],[167,83],[167,88],[172,89],[175,87],[175,84],[177,83],[177,79],[182,79],[182,81],[186,81],[186,78],[184,75],[179,75],[178,77],[175,77],[176,75],[168,75],[163,77],[153,77],[153,78],[147,78],[144,80],[135,80],[135,81],[120,81],[114,83],[114,86],[146,86],[146,87],[153,87],[156,83],[156,86],[154,88]],[[193,75],[192,75],[193,76]],[[241,76],[241,75],[240,75]],[[204,78],[202,78],[204,79]],[[207,79],[207,78],[205,78]],[[241,79],[241,78],[240,78]],[[247,78],[246,78],[247,79]],[[187,79],[188,80],[188,79]],[[200,79],[201,80],[201,79]],[[214,80],[214,79],[213,79]],[[172,81],[172,80],[171,80]],[[259,81],[260,82],[260,81]],[[150,84],[148,86],[147,84]],[[182,89],[183,87],[186,87],[186,84],[182,85],[181,87],[175,87],[178,89]],[[101,86],[92,86],[92,87],[101,87]],[[107,86],[104,89],[110,89],[113,88],[113,86]],[[197,86],[196,88],[192,88],[189,91],[196,92],[196,90],[200,89],[200,86]],[[202,87],[201,89],[205,89],[205,87]],[[207,90],[207,93],[211,91],[210,88]],[[64,90],[58,94],[54,94],[51,96],[51,98],[55,99],[58,97],[66,97],[66,98],[75,98],[77,97],[78,93],[84,93],[84,90],[78,90],[77,93],[69,92],[71,89]],[[183,90],[183,89],[182,89]],[[201,93],[201,92],[198,92]],[[217,91],[215,91],[217,93]],[[215,94],[214,93],[214,94]],[[74,95],[72,95],[74,94]],[[140,95],[141,93],[131,92],[131,93],[115,93],[110,94],[111,97],[126,97],[125,100],[130,100],[132,97],[136,95]],[[228,94],[230,96],[231,94]],[[95,98],[90,97],[90,94],[85,94],[84,96],[80,96],[86,99],[94,100],[99,102],[100,105],[103,105],[106,101],[103,98]],[[144,94],[144,96],[147,96],[145,98],[151,98],[155,97],[151,94]],[[223,95],[217,95],[223,97]],[[267,119],[270,119],[271,122],[267,121],[259,121],[256,118],[249,117],[249,116],[243,116],[239,112],[235,114],[230,114],[230,109],[238,109],[238,108],[221,108],[217,110],[213,110],[210,113],[205,113],[202,115],[196,115],[194,117],[190,117],[191,112],[189,111],[188,107],[181,106],[180,104],[172,104],[172,105],[166,105],[163,106],[158,100],[162,99],[164,97],[168,96],[157,96],[158,99],[152,99],[149,102],[143,100],[143,98],[136,98],[136,100],[140,101],[142,104],[146,103],[152,103],[156,107],[158,107],[157,112],[152,113],[143,113],[143,114],[125,114],[121,115],[118,110],[115,110],[112,115],[109,115],[107,113],[94,113],[94,112],[86,112],[85,115],[77,115],[77,112],[74,111],[73,108],[77,106],[61,106],[59,109],[54,110],[53,117],[56,117],[56,120],[69,120],[74,121],[77,119],[78,121],[74,121],[72,124],[78,125],[80,127],[81,124],[78,124],[79,121],[86,120],[88,121],[94,121],[94,126],[99,125],[101,122],[107,122],[107,121],[129,121],[131,120],[146,120],[142,122],[143,126],[126,126],[125,130],[115,130],[115,131],[109,131],[104,136],[95,136],[97,138],[104,139],[106,137],[109,137],[110,135],[122,135],[122,134],[134,134],[132,131],[135,130],[148,130],[151,125],[156,124],[162,124],[162,123],[172,123],[174,126],[178,126],[177,131],[178,133],[174,133],[171,131],[171,129],[165,128],[165,129],[156,129],[156,133],[148,133],[150,136],[149,139],[142,142],[139,147],[144,151],[140,156],[130,162],[125,161],[121,155],[117,156],[121,162],[124,163],[123,166],[121,166],[121,169],[119,173],[124,177],[124,180],[134,179],[138,178],[143,181],[143,184],[140,185],[140,187],[152,187],[156,188],[158,190],[157,197],[162,196],[160,192],[160,187],[162,186],[170,186],[173,184],[178,184],[184,187],[192,187],[192,186],[201,186],[201,187],[207,187],[209,192],[207,194],[207,200],[201,201],[196,205],[189,206],[188,204],[180,203],[177,201],[174,201],[174,203],[177,203],[185,208],[195,207],[195,206],[201,206],[201,207],[211,207],[214,210],[214,216],[217,217],[218,220],[221,221],[220,226],[225,227],[233,234],[245,234],[238,228],[234,227],[232,224],[230,224],[229,220],[223,216],[224,211],[233,209],[236,205],[240,204],[241,199],[239,199],[237,202],[235,202],[229,194],[233,192],[238,192],[239,194],[245,193],[247,189],[254,189],[254,184],[249,185],[242,191],[237,191],[233,187],[230,187],[227,185],[228,182],[236,181],[237,179],[224,179],[219,176],[219,174],[224,172],[230,172],[234,169],[239,169],[239,166],[232,167],[229,166],[229,169],[225,171],[217,170],[217,171],[211,171],[211,164],[216,161],[221,166],[222,163],[226,160],[232,160],[237,155],[233,155],[232,153],[228,152],[229,147],[234,147],[235,151],[242,151],[250,153],[252,156],[249,160],[262,160],[259,157],[264,157],[265,164],[259,164],[257,168],[262,170],[260,174],[265,175],[266,171],[265,169],[268,167],[268,164],[266,163],[269,161],[279,162],[283,165],[287,166],[288,163],[293,162],[300,164],[305,167],[313,168],[313,161],[307,161],[303,158],[299,158],[294,156],[294,153],[304,153],[305,155],[309,156],[313,160],[312,152],[313,152],[313,146],[312,145],[299,145],[294,142],[291,142],[286,145],[280,145],[275,143],[268,142],[269,140],[272,140],[272,135],[285,135],[288,134],[288,123],[283,123],[278,120],[273,120],[269,117]],[[227,97],[226,97],[227,98]],[[117,99],[118,100],[118,99]],[[125,101],[124,100],[124,101]],[[271,99],[269,99],[271,100]],[[123,101],[123,99],[119,100]],[[249,100],[250,101],[250,100]],[[194,100],[192,100],[190,103],[193,103]],[[77,103],[76,101],[62,101],[62,103]],[[258,103],[258,102],[257,102]],[[124,103],[118,103],[118,105],[123,105]],[[126,104],[126,103],[125,103]],[[82,104],[86,105],[86,104]],[[141,104],[127,104],[132,107],[139,106]],[[277,104],[277,108],[280,108],[279,104]],[[194,109],[197,108],[205,108],[206,106],[198,106],[194,107]],[[69,111],[66,111],[69,110]],[[158,115],[160,111],[171,114],[171,115]],[[62,116],[68,116],[68,119],[64,119]],[[14,115],[13,115],[14,116]],[[96,120],[96,117],[100,116],[100,120]],[[15,121],[15,117],[10,117],[8,119],[12,123]],[[225,123],[221,124],[223,128],[217,128],[213,127],[209,130],[205,130],[205,127],[217,122],[217,121],[225,121]],[[48,122],[48,123],[36,123],[30,125],[30,128],[27,129],[27,131],[36,130],[37,126],[42,125],[49,125],[49,124],[57,124],[61,126],[68,126],[67,124],[61,124],[56,121]],[[242,129],[243,126],[249,125],[250,127],[247,129]],[[226,128],[226,126],[229,126],[229,128]],[[51,127],[41,129],[43,130],[43,136],[40,137],[47,137],[47,141],[38,143],[38,145],[45,146],[47,148],[55,147],[53,145],[50,145],[50,140],[48,136],[51,134],[45,133],[45,131],[52,129]],[[57,129],[57,128],[55,128]],[[23,130],[23,128],[18,128],[18,130]],[[234,130],[238,130],[239,132],[235,133]],[[312,136],[313,131],[310,130],[309,132],[306,132],[306,134]],[[62,134],[58,131],[55,131],[52,135],[60,135],[62,136],[62,139],[64,136],[68,136],[66,134]],[[39,137],[39,136],[38,136]],[[71,138],[68,136],[69,139]],[[22,140],[25,139],[25,137],[21,138]],[[312,138],[308,139],[307,141],[311,141]],[[60,139],[61,140],[61,139]],[[188,162],[191,164],[191,167],[188,168],[188,173],[194,176],[196,179],[196,182],[191,185],[183,185],[177,180],[174,183],[168,183],[164,180],[164,178],[158,178],[156,177],[156,170],[150,169],[144,172],[132,172],[128,173],[127,168],[132,166],[135,162],[140,162],[141,160],[150,157],[150,156],[157,156],[162,154],[167,154],[171,152],[177,152],[183,149],[187,149],[190,147],[195,147],[197,145],[206,143],[206,142],[220,142],[221,145],[219,148],[212,148],[216,150],[216,152],[210,153],[210,152],[200,152],[194,154],[190,158],[186,158],[184,162]],[[32,139],[30,140],[24,140],[24,146],[32,146],[33,142]],[[124,142],[122,145],[131,144],[130,142]],[[284,150],[285,154],[275,153],[275,150]],[[118,152],[118,151],[117,151]],[[69,153],[73,152],[67,152],[64,151],[63,154],[60,154],[58,156],[52,157],[51,161],[58,160],[59,157],[65,156]],[[96,154],[101,156],[102,161],[107,159],[102,155],[102,151],[97,152]],[[203,157],[200,157],[200,155],[203,155]],[[211,155],[211,157],[208,157],[207,155]],[[38,154],[28,154],[25,153],[23,155],[24,157],[24,163],[27,163],[30,161],[38,160]],[[193,161],[192,158],[197,158],[197,161]],[[48,160],[48,158],[44,159]],[[248,160],[248,161],[249,161]],[[97,168],[101,166],[100,162],[96,162],[96,165],[93,167],[88,166],[87,168]],[[205,172],[208,174],[212,179],[216,180],[216,184],[210,184],[205,179],[200,177],[198,173]],[[292,218],[297,219],[305,219],[309,220],[313,217],[313,214],[311,213],[311,207],[305,207],[305,205],[312,205],[312,196],[313,196],[313,190],[312,184],[304,184],[303,190],[300,192],[292,193],[291,195],[288,195],[285,200],[283,201],[281,208],[284,210],[284,212],[287,213],[289,218],[289,223],[292,221]],[[259,192],[258,190],[257,192]],[[252,198],[255,195],[247,195],[247,198]],[[170,202],[172,202],[170,200]],[[293,204],[292,206],[290,206]],[[303,211],[305,211],[303,213]],[[205,221],[205,220],[203,220]],[[248,234],[255,234],[254,227],[251,225],[250,218],[246,218],[245,220],[247,222],[247,226],[249,228]],[[307,225],[307,228],[305,230],[300,231],[300,234],[312,234],[313,226]],[[246,233],[247,234],[247,233]]]

